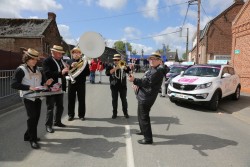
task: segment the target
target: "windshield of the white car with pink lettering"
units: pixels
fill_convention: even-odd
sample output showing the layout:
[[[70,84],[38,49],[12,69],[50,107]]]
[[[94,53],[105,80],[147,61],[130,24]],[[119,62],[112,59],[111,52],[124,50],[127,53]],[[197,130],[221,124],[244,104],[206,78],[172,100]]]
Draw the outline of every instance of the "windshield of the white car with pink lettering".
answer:
[[[213,66],[193,66],[184,72],[184,75],[201,76],[201,77],[217,77],[220,73],[219,67]]]

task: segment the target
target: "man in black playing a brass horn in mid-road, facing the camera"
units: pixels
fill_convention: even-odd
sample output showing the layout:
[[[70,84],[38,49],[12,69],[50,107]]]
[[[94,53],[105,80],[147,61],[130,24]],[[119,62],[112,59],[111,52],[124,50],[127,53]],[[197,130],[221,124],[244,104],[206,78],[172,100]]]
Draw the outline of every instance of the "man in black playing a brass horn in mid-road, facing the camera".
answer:
[[[128,74],[131,70],[125,64],[122,67],[119,66],[119,61],[121,60],[120,54],[115,54],[113,60],[114,64],[108,66],[106,69],[106,75],[109,76],[110,89],[112,95],[112,105],[113,105],[112,119],[115,119],[117,117],[118,94],[120,94],[120,98],[122,101],[123,114],[125,118],[129,118],[126,74]]]

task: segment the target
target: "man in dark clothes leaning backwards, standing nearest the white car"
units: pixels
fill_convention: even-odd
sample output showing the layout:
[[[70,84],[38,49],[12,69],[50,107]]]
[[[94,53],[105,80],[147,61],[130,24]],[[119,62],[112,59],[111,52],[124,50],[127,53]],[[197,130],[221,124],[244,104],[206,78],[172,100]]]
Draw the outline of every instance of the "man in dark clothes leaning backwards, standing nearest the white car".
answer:
[[[138,100],[137,113],[141,131],[137,134],[144,135],[144,139],[138,140],[139,144],[153,143],[149,112],[157,98],[163,76],[165,75],[163,68],[160,67],[161,61],[159,53],[152,53],[149,57],[150,69],[145,73],[144,77],[139,79],[130,75],[128,78],[130,82],[133,82],[133,88]]]

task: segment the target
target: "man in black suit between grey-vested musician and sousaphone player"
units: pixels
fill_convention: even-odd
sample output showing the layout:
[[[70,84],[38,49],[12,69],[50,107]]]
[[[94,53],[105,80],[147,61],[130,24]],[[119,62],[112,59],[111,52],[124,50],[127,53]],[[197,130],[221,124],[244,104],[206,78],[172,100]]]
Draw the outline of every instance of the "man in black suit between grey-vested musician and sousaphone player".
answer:
[[[60,83],[62,90],[66,91],[66,79],[65,75],[68,73],[69,68],[65,65],[62,60],[62,54],[64,53],[63,48],[58,45],[54,45],[51,50],[51,56],[46,58],[43,61],[43,73],[46,79],[52,78],[54,81],[50,86],[53,86],[55,83]],[[46,97],[47,104],[47,117],[46,117],[46,131],[53,133],[54,126],[65,127],[61,122],[61,117],[63,114],[63,94],[56,94]],[[56,106],[56,112],[54,117],[54,106]]]

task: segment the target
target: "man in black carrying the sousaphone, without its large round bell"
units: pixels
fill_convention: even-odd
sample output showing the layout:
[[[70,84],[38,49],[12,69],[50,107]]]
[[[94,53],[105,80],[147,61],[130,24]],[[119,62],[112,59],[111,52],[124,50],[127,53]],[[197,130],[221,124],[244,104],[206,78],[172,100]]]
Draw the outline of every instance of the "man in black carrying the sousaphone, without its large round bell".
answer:
[[[70,70],[75,69],[79,74],[74,78],[74,83],[69,80],[68,87],[68,121],[73,121],[75,117],[75,100],[76,94],[78,99],[78,117],[82,121],[85,120],[85,93],[86,93],[86,76],[90,74],[89,64],[87,59],[82,59],[82,52],[80,48],[75,47],[71,50],[71,56],[73,59],[68,61]],[[76,68],[76,66],[79,66]],[[73,68],[73,69],[72,69]],[[81,71],[80,71],[81,70]],[[75,71],[72,71],[74,73]],[[76,74],[76,72],[74,73]],[[73,74],[72,74],[73,75]]]

